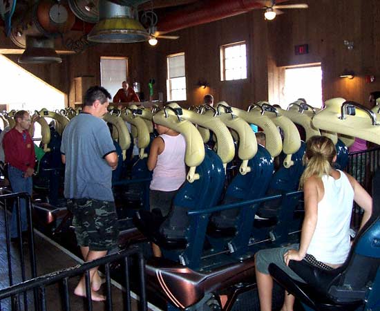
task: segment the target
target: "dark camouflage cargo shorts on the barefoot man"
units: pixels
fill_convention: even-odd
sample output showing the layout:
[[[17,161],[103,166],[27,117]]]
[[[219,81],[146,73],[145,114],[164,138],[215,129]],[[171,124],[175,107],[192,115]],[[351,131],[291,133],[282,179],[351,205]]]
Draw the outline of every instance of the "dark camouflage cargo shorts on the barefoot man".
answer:
[[[73,226],[79,246],[104,251],[117,245],[119,229],[115,202],[90,198],[68,199],[68,210],[74,215]]]

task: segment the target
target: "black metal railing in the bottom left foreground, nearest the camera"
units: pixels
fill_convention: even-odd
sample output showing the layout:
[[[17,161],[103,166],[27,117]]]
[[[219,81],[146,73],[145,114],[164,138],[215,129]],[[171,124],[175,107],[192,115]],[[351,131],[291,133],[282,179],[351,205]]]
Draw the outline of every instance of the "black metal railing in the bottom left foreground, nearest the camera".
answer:
[[[47,309],[47,297],[46,297],[46,288],[51,286],[53,290],[57,290],[58,294],[55,296],[55,301],[57,301],[57,297],[61,299],[62,309],[64,311],[73,310],[71,308],[72,304],[70,303],[70,294],[68,290],[68,280],[78,275],[85,274],[86,279],[86,308],[88,311],[93,310],[93,301],[91,300],[91,283],[90,283],[90,270],[94,267],[103,266],[106,276],[106,310],[113,310],[113,301],[112,301],[112,293],[111,293],[111,272],[110,272],[110,264],[122,261],[123,265],[123,284],[124,291],[123,293],[123,305],[122,310],[131,311],[131,282],[130,282],[130,266],[131,265],[131,257],[137,257],[137,279],[139,282],[139,305],[138,310],[146,311],[147,310],[147,302],[146,302],[146,275],[145,275],[145,262],[142,253],[137,249],[137,247],[133,249],[126,249],[121,252],[117,252],[115,254],[111,254],[105,256],[103,258],[99,258],[95,261],[91,261],[88,263],[84,263],[83,265],[77,265],[75,267],[70,267],[65,270],[61,270],[59,272],[53,272],[50,274],[46,274],[44,276],[39,276],[35,279],[31,279],[29,281],[19,283],[17,285],[12,285],[9,288],[0,290],[0,310],[9,310],[8,305],[12,305],[12,311],[19,310],[28,310],[28,304],[23,304],[23,308],[21,308],[20,296],[26,296],[28,292],[35,292],[38,294],[37,299],[35,299],[35,311],[45,311]],[[136,278],[133,280],[135,281]],[[54,288],[53,285],[59,284],[61,286],[61,290],[59,288]],[[10,301],[9,301],[10,300]],[[57,304],[57,302],[55,302]],[[120,310],[118,308],[118,310]],[[134,309],[135,310],[135,309]]]

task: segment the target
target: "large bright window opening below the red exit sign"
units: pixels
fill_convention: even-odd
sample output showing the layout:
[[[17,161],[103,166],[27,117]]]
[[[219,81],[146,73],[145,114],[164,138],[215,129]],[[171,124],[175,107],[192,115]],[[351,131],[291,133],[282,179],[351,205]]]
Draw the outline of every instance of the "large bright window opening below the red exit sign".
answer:
[[[315,108],[322,107],[322,68],[318,66],[303,66],[285,68],[285,102],[287,105],[298,98],[304,98],[307,104]]]

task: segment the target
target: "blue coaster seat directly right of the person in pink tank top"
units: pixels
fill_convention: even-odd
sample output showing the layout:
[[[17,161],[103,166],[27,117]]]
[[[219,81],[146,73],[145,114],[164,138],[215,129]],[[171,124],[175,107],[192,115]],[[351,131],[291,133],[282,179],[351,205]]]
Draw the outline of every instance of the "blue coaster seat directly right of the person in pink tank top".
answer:
[[[225,170],[219,156],[209,147],[205,147],[205,151],[205,159],[196,170],[200,179],[184,182],[167,217],[160,218],[157,214],[140,210],[133,218],[140,232],[162,247],[165,258],[178,261],[181,255],[185,262],[191,261],[194,265],[199,263],[203,246],[198,241],[198,235],[205,234],[208,219],[189,217],[187,212],[216,205],[225,180]]]

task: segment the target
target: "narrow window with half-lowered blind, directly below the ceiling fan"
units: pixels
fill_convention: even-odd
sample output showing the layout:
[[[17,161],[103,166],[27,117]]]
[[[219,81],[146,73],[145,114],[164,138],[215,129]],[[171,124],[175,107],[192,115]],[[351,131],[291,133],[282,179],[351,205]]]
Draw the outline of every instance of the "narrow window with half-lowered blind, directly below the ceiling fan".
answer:
[[[186,100],[186,77],[184,74],[184,53],[167,57],[167,99]]]

